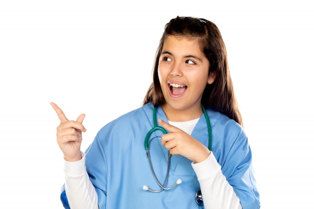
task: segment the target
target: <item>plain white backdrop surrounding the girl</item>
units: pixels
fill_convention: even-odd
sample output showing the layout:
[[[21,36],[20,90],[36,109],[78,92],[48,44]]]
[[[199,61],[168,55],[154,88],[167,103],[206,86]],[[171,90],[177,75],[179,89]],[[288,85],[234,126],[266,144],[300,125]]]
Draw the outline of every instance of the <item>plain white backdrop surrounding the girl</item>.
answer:
[[[312,3],[148,2],[0,1],[0,208],[62,208],[49,103],[69,119],[86,114],[85,150],[103,125],[141,105],[176,16],[221,30],[262,208],[312,208]]]

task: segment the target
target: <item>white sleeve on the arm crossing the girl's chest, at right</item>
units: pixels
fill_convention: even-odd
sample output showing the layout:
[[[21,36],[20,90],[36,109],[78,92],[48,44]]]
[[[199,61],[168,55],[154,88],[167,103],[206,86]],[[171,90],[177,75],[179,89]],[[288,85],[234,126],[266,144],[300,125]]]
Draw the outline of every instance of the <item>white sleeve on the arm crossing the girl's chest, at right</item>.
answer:
[[[200,182],[204,208],[242,209],[213,152],[203,162],[192,163],[192,167]]]

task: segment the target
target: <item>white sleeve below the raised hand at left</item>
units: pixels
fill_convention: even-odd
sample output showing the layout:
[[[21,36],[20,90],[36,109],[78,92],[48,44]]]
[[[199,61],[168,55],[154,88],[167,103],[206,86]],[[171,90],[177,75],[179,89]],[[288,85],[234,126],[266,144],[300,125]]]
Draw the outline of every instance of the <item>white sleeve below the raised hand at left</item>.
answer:
[[[64,174],[65,192],[71,209],[99,208],[96,190],[86,171],[83,152],[79,161],[64,161]]]

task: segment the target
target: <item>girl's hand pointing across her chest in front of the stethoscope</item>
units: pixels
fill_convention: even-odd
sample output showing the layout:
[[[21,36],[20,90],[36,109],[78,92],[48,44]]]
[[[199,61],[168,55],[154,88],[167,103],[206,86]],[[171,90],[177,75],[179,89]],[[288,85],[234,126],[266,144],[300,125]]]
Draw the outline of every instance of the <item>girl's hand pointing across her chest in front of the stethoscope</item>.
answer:
[[[195,163],[209,157],[211,152],[204,144],[162,119],[158,119],[158,122],[170,132],[162,136],[162,144],[170,150],[171,154],[185,156]]]

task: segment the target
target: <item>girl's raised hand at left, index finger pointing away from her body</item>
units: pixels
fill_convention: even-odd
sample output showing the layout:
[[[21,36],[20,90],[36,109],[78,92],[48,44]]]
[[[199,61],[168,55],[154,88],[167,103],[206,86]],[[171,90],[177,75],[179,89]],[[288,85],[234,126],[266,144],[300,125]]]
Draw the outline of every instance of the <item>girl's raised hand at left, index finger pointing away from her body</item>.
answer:
[[[76,121],[68,120],[58,105],[53,102],[50,104],[60,119],[60,125],[57,127],[57,142],[64,154],[64,159],[70,162],[80,160],[82,158],[82,132],[86,131],[82,124],[85,114],[78,116]]]

